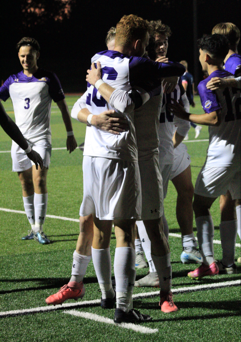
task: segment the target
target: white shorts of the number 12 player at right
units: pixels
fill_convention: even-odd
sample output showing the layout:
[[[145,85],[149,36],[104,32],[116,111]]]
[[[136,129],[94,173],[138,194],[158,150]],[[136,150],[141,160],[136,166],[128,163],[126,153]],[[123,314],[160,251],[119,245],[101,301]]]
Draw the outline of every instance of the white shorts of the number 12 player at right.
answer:
[[[228,167],[207,167],[203,165],[195,184],[194,193],[204,197],[216,198],[229,190],[232,199],[241,197],[240,164]]]

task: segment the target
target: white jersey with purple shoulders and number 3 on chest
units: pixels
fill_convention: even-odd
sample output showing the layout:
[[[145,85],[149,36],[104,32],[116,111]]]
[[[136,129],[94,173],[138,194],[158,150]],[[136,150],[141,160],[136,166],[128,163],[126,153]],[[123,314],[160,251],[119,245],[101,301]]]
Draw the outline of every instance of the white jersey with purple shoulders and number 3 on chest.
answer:
[[[0,98],[13,102],[15,121],[30,143],[47,139],[51,143],[50,113],[52,99],[65,98],[54,73],[39,68],[32,77],[23,71],[10,76],[0,88]],[[16,143],[13,141],[13,145]]]

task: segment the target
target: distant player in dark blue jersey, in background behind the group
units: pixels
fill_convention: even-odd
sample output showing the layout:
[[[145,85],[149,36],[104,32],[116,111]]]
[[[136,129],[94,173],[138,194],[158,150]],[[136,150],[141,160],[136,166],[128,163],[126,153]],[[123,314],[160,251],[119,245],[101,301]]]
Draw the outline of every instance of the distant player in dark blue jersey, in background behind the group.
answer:
[[[190,106],[195,107],[196,105],[195,105],[195,102],[193,101],[193,94],[194,94],[193,75],[190,74],[189,71],[187,70],[187,61],[181,61],[180,63],[184,65],[186,68],[186,72],[181,77],[183,88],[187,94],[187,98],[190,103]],[[202,129],[202,126],[196,125],[193,122],[190,122],[190,124],[195,129],[195,139],[197,139]],[[188,134],[185,136],[184,140],[188,140]]]

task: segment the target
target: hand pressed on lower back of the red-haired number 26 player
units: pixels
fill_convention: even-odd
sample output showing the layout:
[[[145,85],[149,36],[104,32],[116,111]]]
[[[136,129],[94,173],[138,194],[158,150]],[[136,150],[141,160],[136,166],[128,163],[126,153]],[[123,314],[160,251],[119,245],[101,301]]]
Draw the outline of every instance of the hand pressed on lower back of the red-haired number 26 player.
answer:
[[[103,111],[99,115],[93,115],[91,124],[102,131],[107,131],[116,135],[130,129],[128,120],[124,117],[115,117],[115,111],[113,109]]]

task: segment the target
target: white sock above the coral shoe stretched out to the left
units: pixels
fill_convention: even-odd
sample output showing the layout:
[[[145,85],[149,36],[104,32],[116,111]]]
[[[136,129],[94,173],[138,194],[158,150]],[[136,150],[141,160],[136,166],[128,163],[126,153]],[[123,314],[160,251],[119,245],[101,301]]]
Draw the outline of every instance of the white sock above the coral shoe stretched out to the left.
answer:
[[[91,259],[91,255],[81,255],[77,253],[76,250],[74,251],[70,281],[81,282],[84,279],[86,269]]]

